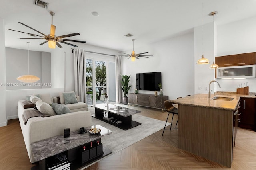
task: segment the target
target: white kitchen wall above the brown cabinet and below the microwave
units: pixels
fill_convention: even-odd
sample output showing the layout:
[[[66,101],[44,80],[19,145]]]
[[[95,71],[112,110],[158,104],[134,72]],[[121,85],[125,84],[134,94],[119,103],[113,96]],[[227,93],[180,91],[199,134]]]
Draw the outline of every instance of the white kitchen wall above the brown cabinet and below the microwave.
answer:
[[[256,51],[256,17],[218,26],[217,56],[250,53]],[[219,91],[236,92],[238,84],[248,82],[249,92],[256,92],[256,78],[239,80],[217,79]]]

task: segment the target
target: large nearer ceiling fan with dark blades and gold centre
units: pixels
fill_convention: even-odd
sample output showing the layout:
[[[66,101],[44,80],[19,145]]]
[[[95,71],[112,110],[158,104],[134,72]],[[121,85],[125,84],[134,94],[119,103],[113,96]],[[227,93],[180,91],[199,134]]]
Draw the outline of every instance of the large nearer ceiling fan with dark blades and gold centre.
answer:
[[[53,16],[55,15],[54,12],[50,12],[50,15]],[[55,48],[55,46],[57,45],[58,47],[62,48],[62,46],[59,44],[59,43],[64,43],[64,44],[67,44],[67,45],[71,45],[73,47],[78,47],[77,45],[74,45],[74,44],[70,44],[70,43],[67,43],[65,41],[72,41],[72,42],[77,42],[77,43],[86,43],[85,41],[78,41],[78,40],[72,40],[72,39],[63,39],[63,38],[66,38],[66,37],[72,37],[72,36],[76,36],[76,35],[80,35],[80,33],[71,33],[71,34],[67,34],[67,35],[61,35],[61,36],[55,36],[55,29],[56,29],[56,26],[51,24],[51,31],[50,31],[50,34],[46,35],[44,33],[41,33],[40,31],[37,31],[36,29],[32,28],[32,27],[29,27],[28,25],[25,25],[24,23],[21,23],[19,22],[20,24],[30,28],[30,29],[33,29],[34,31],[44,35],[36,35],[36,34],[33,34],[33,33],[26,33],[30,36],[33,36],[33,37],[41,37],[41,38],[20,38],[20,39],[45,39],[46,41],[44,41],[43,43],[39,44],[39,45],[43,45],[45,43],[48,42],[48,46],[49,48]],[[8,29],[8,30],[11,30],[11,31],[16,31],[16,30],[13,30],[13,29]],[[25,32],[21,32],[21,31],[17,31],[17,32],[20,32],[20,33],[25,33]]]

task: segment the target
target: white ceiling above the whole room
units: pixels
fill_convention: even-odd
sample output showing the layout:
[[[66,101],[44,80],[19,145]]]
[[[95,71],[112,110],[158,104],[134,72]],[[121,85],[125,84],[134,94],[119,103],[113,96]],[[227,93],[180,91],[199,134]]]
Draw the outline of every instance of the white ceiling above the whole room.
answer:
[[[66,39],[86,41],[118,51],[132,50],[144,44],[154,43],[193,31],[202,23],[216,25],[230,23],[256,16],[256,0],[43,0],[49,2],[48,9],[34,5],[34,0],[0,0],[0,18],[5,23],[6,47],[51,52],[43,39],[18,39],[28,37],[24,33],[39,34],[18,22],[22,22],[42,33],[50,34],[50,11],[55,12],[53,25],[56,35],[80,33]],[[91,13],[96,11],[99,16]],[[202,12],[203,11],[203,12]],[[203,16],[203,17],[202,17]],[[255,21],[256,22],[256,21]],[[127,33],[134,36],[125,37]],[[72,43],[72,42],[70,42]],[[60,43],[62,47],[72,47]],[[80,45],[80,43],[74,43]],[[56,48],[58,48],[56,46]]]

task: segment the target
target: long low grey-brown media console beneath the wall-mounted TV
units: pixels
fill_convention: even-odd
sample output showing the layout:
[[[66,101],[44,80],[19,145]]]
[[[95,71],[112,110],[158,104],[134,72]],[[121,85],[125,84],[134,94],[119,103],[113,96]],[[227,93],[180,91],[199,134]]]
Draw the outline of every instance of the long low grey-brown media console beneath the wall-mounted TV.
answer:
[[[164,109],[164,101],[168,100],[168,96],[155,96],[154,94],[128,94],[128,103],[139,106],[153,107],[158,109]]]

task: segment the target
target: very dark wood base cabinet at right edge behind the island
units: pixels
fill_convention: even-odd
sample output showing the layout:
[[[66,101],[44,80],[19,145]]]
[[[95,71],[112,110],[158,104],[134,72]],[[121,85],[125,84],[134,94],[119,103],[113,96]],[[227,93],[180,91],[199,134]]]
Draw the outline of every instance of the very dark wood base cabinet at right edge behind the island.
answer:
[[[256,99],[241,97],[240,100],[241,115],[238,127],[256,131]]]

